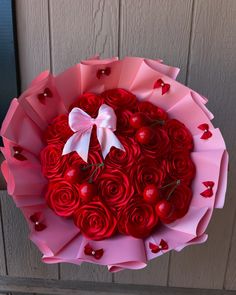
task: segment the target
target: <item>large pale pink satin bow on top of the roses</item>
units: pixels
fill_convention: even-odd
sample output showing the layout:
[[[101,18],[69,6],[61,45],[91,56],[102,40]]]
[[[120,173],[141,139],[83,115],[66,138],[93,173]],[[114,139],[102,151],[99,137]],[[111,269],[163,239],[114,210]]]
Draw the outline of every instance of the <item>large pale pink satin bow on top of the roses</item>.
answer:
[[[64,145],[62,155],[76,151],[87,162],[93,125],[97,126],[97,138],[104,159],[112,146],[125,151],[123,145],[113,133],[116,130],[116,114],[111,107],[102,104],[95,119],[80,108],[72,109],[69,114],[69,126],[75,133]]]

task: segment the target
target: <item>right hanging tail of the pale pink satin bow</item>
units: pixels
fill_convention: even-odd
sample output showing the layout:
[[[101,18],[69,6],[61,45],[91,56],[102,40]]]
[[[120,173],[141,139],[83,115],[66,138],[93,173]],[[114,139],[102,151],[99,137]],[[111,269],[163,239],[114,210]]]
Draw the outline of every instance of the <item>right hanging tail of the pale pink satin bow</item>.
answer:
[[[122,151],[125,151],[125,148],[115,136],[113,131],[109,128],[97,128],[97,138],[101,146],[102,155],[105,159],[107,154],[110,152],[111,147],[116,147]]]

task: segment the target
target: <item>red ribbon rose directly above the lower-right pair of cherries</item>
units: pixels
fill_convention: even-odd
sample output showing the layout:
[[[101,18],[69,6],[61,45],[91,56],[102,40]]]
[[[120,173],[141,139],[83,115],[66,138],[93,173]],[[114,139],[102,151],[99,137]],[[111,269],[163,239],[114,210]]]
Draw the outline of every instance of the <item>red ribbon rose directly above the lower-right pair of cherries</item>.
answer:
[[[135,163],[131,169],[131,179],[140,195],[149,184],[155,184],[157,187],[162,186],[165,175],[165,162],[159,163],[145,157]]]

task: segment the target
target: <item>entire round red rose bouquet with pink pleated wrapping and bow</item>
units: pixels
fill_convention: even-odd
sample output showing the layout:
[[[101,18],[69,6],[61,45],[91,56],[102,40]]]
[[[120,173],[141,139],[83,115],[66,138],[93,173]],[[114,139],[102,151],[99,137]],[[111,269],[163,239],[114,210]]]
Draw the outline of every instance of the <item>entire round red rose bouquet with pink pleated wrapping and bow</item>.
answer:
[[[93,58],[40,74],[12,101],[1,168],[44,262],[139,269],[206,241],[228,154],[206,98],[178,72]]]

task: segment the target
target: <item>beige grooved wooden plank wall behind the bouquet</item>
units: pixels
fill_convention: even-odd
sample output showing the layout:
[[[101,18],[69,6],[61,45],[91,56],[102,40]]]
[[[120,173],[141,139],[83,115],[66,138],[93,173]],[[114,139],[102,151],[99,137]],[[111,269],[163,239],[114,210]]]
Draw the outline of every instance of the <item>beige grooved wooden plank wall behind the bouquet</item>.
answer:
[[[16,0],[15,5],[22,90],[40,71],[58,73],[96,53],[161,58],[181,68],[181,82],[209,98],[230,152],[230,173],[226,205],[214,213],[207,243],[115,275],[93,265],[42,264],[26,223],[2,191],[0,291],[231,294],[227,290],[236,290],[236,1]]]

